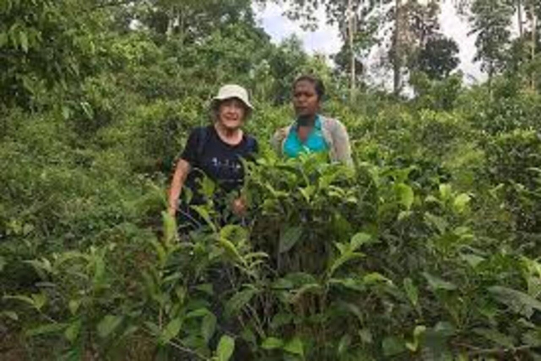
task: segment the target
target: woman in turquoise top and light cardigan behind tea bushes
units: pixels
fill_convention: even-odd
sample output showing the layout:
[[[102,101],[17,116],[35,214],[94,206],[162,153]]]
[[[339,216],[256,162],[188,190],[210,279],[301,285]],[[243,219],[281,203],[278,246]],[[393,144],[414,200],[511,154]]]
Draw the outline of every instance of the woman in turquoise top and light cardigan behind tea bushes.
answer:
[[[320,114],[325,86],[318,78],[302,75],[293,83],[293,107],[297,119],[278,130],[273,146],[280,154],[298,157],[303,153],[327,153],[331,161],[352,166],[347,130],[337,119]]]

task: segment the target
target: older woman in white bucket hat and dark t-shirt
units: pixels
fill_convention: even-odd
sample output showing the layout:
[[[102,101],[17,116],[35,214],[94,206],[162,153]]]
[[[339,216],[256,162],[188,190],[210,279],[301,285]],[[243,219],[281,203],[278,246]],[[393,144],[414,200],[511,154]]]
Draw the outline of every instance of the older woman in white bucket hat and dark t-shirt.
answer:
[[[213,124],[195,128],[180,154],[168,197],[168,213],[171,216],[179,211],[178,200],[183,187],[192,191],[191,204],[204,203],[197,189],[202,174],[218,185],[220,201],[225,202],[228,193],[242,186],[244,168],[241,159],[251,159],[258,149],[254,137],[242,130],[253,109],[248,92],[243,87],[231,84],[220,88],[211,104]],[[235,199],[229,205],[237,215],[242,215],[246,207],[242,198]],[[199,217],[189,211],[187,204],[184,206],[180,209],[181,221],[199,223]]]

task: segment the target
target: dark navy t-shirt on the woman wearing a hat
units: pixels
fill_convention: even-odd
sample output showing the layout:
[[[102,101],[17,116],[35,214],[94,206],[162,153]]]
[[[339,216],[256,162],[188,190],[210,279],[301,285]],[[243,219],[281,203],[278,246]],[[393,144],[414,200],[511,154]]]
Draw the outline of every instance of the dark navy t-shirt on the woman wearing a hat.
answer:
[[[200,139],[204,135],[205,139]],[[204,146],[200,146],[204,142]],[[206,130],[195,128],[188,137],[185,149],[180,158],[187,161],[192,170],[189,172],[185,186],[192,190],[192,204],[201,203],[199,179],[203,172],[218,185],[220,193],[238,190],[244,182],[244,166],[240,159],[254,159],[258,145],[254,138],[244,134],[238,145],[229,145],[220,139],[213,126]]]

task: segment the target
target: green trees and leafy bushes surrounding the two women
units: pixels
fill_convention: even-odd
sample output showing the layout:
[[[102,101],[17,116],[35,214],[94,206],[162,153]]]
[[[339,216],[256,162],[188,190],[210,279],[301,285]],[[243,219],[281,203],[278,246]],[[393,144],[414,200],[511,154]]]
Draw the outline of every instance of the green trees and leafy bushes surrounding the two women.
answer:
[[[334,66],[247,0],[0,1],[3,360],[541,359],[541,3],[453,2],[472,87],[440,1],[287,4],[306,27],[325,9]],[[381,43],[390,92],[365,82]],[[301,73],[354,170],[268,149]],[[168,178],[225,82],[256,106],[250,222],[207,204],[180,242]]]

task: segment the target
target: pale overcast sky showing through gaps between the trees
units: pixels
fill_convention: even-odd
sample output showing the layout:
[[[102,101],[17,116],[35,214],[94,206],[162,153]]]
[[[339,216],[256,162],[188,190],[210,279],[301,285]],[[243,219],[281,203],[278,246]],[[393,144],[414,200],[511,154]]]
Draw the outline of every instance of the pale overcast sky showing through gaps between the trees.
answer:
[[[263,11],[257,9],[257,15],[261,25],[274,42],[280,42],[282,39],[289,37],[292,34],[297,34],[304,42],[304,48],[309,53],[315,52],[326,55],[334,54],[340,50],[340,39],[338,38],[337,27],[332,27],[326,24],[325,13],[321,10],[317,17],[321,19],[318,30],[314,32],[304,31],[300,27],[300,23],[293,22],[282,16],[284,8],[277,4],[268,4]],[[452,37],[460,46],[459,68],[465,74],[465,80],[468,83],[473,83],[484,79],[483,73],[480,71],[478,63],[473,62],[475,55],[475,35],[468,36],[471,30],[465,20],[457,16],[454,6],[451,1],[444,1],[442,12],[440,15],[440,23],[442,32],[445,35]],[[381,51],[380,51],[381,52]],[[369,63],[376,63],[378,59],[378,49],[374,49],[369,57]],[[378,76],[372,74],[373,78]]]

